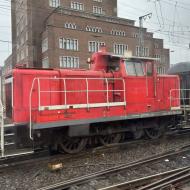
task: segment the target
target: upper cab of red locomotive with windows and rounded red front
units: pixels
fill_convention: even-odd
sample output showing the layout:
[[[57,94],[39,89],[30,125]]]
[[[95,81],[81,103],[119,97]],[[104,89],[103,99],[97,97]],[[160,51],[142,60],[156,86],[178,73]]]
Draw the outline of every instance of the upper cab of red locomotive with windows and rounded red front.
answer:
[[[154,61],[157,59],[147,57],[119,56],[106,52],[95,53],[88,63],[90,70],[105,71],[106,73],[120,73],[122,77],[156,76]]]

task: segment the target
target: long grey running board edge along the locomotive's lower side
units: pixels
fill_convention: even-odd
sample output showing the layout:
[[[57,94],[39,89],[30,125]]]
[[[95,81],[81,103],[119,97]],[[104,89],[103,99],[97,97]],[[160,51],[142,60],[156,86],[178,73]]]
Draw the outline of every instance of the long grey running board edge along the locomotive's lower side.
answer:
[[[83,120],[72,120],[72,121],[60,121],[60,122],[49,122],[49,123],[33,123],[33,129],[47,129],[52,127],[62,127],[62,126],[72,126],[72,125],[82,125],[90,123],[99,123],[106,121],[118,121],[126,119],[141,119],[149,117],[158,117],[158,116],[171,116],[171,115],[180,115],[182,110],[173,110],[173,111],[161,111],[161,112],[150,112],[144,114],[133,114],[119,117],[102,117],[99,119],[83,119]]]

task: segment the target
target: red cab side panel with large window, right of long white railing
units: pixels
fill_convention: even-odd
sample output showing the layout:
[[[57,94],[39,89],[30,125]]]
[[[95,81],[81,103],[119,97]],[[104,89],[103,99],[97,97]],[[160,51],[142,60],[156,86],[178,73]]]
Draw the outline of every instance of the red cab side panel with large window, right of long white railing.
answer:
[[[149,78],[146,76],[145,64],[140,59],[125,61],[126,100],[131,113],[147,112]]]

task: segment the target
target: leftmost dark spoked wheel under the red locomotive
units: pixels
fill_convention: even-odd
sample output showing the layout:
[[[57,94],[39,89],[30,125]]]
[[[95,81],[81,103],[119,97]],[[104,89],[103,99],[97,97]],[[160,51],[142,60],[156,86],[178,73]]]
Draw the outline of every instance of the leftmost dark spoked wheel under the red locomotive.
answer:
[[[82,137],[64,136],[59,143],[61,152],[64,151],[69,154],[76,154],[85,148],[87,140],[87,138]]]

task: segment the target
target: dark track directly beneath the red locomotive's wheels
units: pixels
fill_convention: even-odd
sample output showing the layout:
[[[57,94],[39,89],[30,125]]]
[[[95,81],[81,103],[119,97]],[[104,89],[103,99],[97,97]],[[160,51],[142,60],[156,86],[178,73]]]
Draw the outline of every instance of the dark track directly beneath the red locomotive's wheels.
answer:
[[[190,129],[187,131],[180,131],[179,133],[172,133],[168,134],[166,138],[171,138],[173,136],[175,137],[181,137],[181,136],[187,136],[190,134]],[[47,150],[41,150],[38,152],[35,152],[33,154],[26,154],[22,156],[16,156],[16,157],[8,157],[0,159],[0,170],[3,170],[5,168],[9,167],[15,167],[23,164],[32,164],[34,162],[54,162],[55,160],[60,160],[61,162],[67,162],[67,160],[70,159],[78,159],[83,156],[96,156],[100,155],[106,151],[111,152],[118,149],[120,151],[120,148],[125,149],[128,148],[128,146],[136,146],[136,145],[143,145],[146,143],[159,143],[162,139],[141,139],[141,140],[130,140],[129,142],[125,143],[117,143],[117,144],[109,144],[105,146],[98,146],[95,148],[89,148],[87,150],[82,151],[81,153],[69,155],[69,154],[57,154],[50,156]]]

